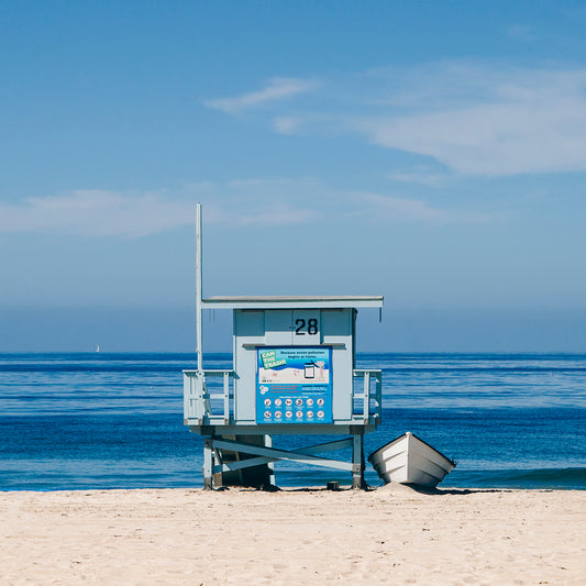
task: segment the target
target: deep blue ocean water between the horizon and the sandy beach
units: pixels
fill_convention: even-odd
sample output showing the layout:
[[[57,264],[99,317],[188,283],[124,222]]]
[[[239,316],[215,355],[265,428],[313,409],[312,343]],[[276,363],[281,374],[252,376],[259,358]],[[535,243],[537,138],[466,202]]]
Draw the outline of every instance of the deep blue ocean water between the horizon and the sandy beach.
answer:
[[[202,440],[183,425],[194,366],[191,354],[0,354],[0,490],[202,486]],[[443,486],[586,489],[586,355],[361,354],[357,367],[383,369],[366,455],[411,431],[457,461]],[[280,486],[333,479],[351,482],[276,466]],[[369,467],[366,479],[380,484]]]

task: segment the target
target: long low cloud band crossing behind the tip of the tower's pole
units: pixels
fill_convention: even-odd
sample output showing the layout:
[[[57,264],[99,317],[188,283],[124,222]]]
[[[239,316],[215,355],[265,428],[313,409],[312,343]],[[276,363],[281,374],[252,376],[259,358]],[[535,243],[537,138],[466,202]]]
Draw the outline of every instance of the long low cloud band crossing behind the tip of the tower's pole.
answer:
[[[195,203],[206,223],[229,229],[309,224],[327,217],[366,222],[469,222],[486,220],[443,210],[424,200],[344,191],[311,177],[199,183],[172,191],[125,194],[76,190],[0,204],[1,233],[58,233],[84,237],[136,239],[192,226]]]

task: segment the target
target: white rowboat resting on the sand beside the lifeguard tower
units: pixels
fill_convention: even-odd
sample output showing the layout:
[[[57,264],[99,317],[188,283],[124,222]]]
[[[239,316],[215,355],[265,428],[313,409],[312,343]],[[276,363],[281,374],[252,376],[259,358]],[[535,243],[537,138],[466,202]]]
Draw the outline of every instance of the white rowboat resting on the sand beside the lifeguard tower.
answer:
[[[434,488],[456,463],[410,431],[368,456],[380,479]]]

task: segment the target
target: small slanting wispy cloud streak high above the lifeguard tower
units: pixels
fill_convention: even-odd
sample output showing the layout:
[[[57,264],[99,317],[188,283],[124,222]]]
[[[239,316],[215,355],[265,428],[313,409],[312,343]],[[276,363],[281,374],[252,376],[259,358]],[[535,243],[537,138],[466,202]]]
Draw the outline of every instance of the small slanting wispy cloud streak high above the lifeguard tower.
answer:
[[[228,114],[237,114],[250,108],[258,108],[269,102],[292,98],[313,89],[314,82],[291,77],[277,77],[258,91],[243,93],[234,98],[220,98],[203,102],[208,108],[221,110]]]

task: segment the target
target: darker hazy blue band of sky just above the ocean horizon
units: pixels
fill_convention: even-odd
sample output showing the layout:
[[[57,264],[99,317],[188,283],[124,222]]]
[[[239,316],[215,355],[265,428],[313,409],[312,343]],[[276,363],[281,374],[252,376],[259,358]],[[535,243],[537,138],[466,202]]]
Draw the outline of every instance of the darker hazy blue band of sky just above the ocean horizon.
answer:
[[[203,351],[232,352],[232,312],[203,313]],[[195,352],[195,308],[0,310],[0,352]],[[586,310],[361,310],[358,352],[584,353]]]

